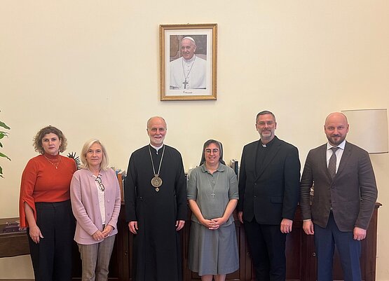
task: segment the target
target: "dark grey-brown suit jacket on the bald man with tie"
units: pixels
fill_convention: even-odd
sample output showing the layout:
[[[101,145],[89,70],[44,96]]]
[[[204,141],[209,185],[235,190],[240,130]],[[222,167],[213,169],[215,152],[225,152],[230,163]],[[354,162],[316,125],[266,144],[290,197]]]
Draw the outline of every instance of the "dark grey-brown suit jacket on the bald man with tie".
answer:
[[[301,177],[300,205],[303,219],[325,228],[332,207],[340,231],[367,229],[377,199],[376,179],[369,154],[346,142],[338,172],[327,170],[327,144],[309,151]],[[310,205],[310,187],[314,196]]]

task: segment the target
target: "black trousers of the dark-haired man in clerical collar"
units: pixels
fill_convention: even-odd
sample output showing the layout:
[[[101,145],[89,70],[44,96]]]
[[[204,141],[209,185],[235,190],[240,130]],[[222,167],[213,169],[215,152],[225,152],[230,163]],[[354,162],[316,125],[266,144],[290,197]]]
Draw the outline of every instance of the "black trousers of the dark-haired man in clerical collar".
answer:
[[[286,234],[280,225],[244,221],[245,234],[257,281],[285,281]]]

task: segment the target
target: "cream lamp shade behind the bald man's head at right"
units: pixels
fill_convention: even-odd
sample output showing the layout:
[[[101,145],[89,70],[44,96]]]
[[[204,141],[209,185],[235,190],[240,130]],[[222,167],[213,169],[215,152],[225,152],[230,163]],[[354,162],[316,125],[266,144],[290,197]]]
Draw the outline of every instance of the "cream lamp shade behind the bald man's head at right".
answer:
[[[387,109],[343,110],[350,129],[347,140],[369,153],[388,153]]]

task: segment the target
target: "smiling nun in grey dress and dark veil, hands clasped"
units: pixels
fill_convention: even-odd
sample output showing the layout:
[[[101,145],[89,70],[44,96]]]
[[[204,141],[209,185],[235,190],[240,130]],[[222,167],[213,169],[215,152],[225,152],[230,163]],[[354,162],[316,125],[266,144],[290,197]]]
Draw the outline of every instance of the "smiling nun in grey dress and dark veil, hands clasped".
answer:
[[[189,175],[192,210],[189,269],[203,281],[224,281],[239,268],[233,210],[238,203],[235,172],[225,165],[223,147],[214,139],[203,146],[200,166]]]

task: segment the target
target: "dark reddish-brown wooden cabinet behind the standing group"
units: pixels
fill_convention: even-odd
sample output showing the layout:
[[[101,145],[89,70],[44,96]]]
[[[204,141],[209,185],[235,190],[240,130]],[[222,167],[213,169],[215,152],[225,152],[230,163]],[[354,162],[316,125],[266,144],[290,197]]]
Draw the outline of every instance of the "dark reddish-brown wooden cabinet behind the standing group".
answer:
[[[360,263],[362,280],[364,281],[375,281],[376,279],[376,232],[378,207],[380,206],[380,203],[376,203],[376,208],[367,230],[367,238],[362,241]],[[236,214],[234,216],[236,217]],[[184,281],[200,280],[200,277],[196,273],[191,272],[187,267],[190,224],[191,221],[188,219],[185,227],[181,231]],[[235,225],[240,254],[240,269],[235,273],[228,274],[226,280],[254,281],[254,273],[250,255],[248,254],[249,251],[243,225],[240,224],[237,218]],[[75,248],[75,250],[74,280],[80,280],[81,261],[79,261],[79,255],[77,256],[78,249]],[[287,280],[316,280],[316,259],[313,236],[303,233],[299,208],[294,218],[292,233],[287,235],[285,253],[287,256]],[[109,280],[132,280],[132,234],[128,231],[127,224],[125,224],[124,205],[121,207],[121,214],[118,221],[118,235],[116,235],[109,276]],[[343,280],[339,257],[337,255],[334,259],[334,280]]]

